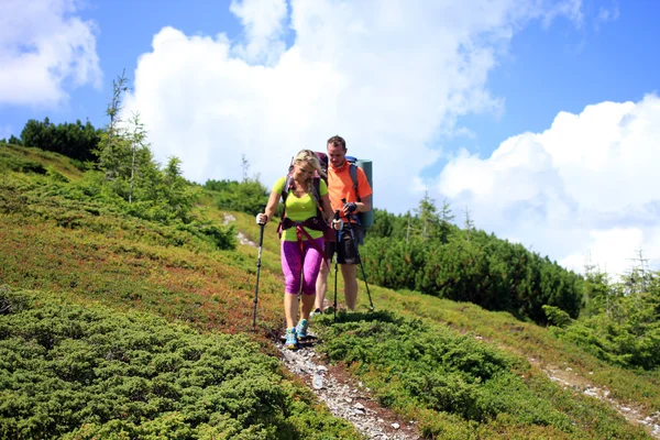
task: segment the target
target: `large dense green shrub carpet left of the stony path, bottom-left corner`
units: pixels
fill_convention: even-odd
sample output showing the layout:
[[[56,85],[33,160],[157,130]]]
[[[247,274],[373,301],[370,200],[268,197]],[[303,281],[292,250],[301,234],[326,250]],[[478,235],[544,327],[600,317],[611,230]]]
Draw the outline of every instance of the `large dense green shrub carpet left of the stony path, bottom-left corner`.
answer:
[[[1,438],[348,438],[244,337],[3,290]],[[326,421],[324,418],[328,418]],[[301,425],[314,420],[317,432]]]

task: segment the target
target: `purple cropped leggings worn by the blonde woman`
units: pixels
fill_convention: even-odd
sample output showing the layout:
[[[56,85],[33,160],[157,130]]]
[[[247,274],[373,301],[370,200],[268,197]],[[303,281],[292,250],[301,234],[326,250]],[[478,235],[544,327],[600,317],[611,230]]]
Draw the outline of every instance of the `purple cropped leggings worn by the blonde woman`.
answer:
[[[314,240],[319,249],[323,249],[323,238]],[[308,240],[302,241],[302,253],[300,243],[297,241],[282,242],[282,272],[286,293],[298,295],[300,290],[300,276],[302,277],[302,294],[316,294],[316,278],[321,268],[323,254],[317,251]]]

